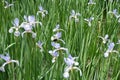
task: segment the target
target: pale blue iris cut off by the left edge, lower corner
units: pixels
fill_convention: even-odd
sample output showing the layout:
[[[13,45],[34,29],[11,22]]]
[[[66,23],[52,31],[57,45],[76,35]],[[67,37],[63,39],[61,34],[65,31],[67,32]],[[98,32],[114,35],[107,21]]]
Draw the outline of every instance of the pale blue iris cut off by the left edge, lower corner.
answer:
[[[0,58],[2,58],[3,60],[5,60],[6,62],[0,67],[0,71],[5,72],[5,65],[9,64],[9,63],[16,63],[19,65],[18,60],[11,60],[10,56],[8,53],[6,53],[6,55],[0,54]]]

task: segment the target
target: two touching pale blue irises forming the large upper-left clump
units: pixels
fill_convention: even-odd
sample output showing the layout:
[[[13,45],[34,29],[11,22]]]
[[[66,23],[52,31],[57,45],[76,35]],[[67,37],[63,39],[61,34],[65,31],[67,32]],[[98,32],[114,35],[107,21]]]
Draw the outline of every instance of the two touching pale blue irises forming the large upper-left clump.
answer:
[[[36,23],[39,23],[40,25],[42,25],[41,22],[39,21],[35,21],[35,16],[31,15],[31,16],[24,16],[25,22],[22,22],[19,25],[19,19],[15,18],[13,21],[13,27],[11,27],[9,29],[9,33],[13,33],[13,30],[15,29],[14,35],[15,36],[20,36],[20,34],[22,34],[22,37],[24,36],[25,33],[31,33],[32,37],[35,38],[36,37],[36,33],[32,31],[32,29],[35,27]],[[19,29],[23,28],[24,31],[20,32]]]

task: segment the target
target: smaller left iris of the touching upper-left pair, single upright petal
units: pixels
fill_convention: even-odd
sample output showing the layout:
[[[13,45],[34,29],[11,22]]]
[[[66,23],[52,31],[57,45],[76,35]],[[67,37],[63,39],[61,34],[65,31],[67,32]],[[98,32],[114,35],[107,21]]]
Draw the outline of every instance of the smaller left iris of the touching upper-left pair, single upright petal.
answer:
[[[15,18],[12,24],[13,24],[13,27],[11,27],[9,29],[9,33],[13,33],[13,30],[15,29],[14,35],[17,36],[17,37],[20,36],[20,32],[19,32],[19,29],[20,29],[19,19]]]

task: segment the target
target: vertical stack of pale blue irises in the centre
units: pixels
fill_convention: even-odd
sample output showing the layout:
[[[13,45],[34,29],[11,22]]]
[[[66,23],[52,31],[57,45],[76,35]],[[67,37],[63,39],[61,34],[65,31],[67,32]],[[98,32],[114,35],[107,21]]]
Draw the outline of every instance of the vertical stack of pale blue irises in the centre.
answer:
[[[50,50],[49,53],[53,56],[52,63],[55,62],[57,57],[59,56],[59,51],[63,50],[68,52],[67,48],[61,47],[59,41],[61,41],[63,44],[65,44],[64,40],[61,39],[62,36],[62,29],[60,29],[60,25],[57,24],[56,27],[53,29],[53,32],[56,32],[52,37],[51,37],[51,45],[55,48],[54,50]]]

